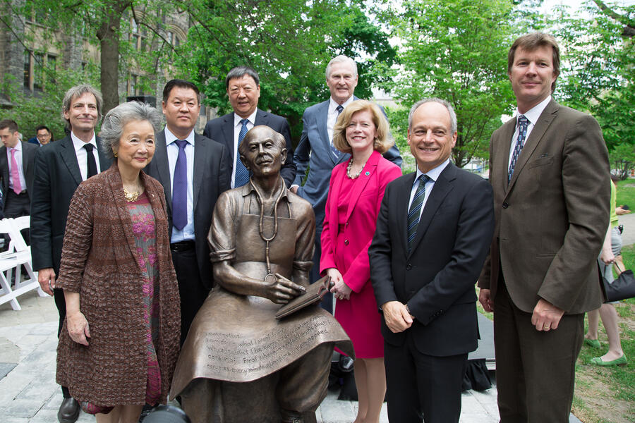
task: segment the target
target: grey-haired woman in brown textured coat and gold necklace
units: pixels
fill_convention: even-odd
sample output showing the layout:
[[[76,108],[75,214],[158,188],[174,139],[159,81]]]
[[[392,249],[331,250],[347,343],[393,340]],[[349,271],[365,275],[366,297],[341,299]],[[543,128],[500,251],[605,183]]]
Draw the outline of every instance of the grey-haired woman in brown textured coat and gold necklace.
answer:
[[[179,353],[163,188],[141,171],[159,123],[147,104],[109,111],[102,144],[114,163],[80,184],[68,212],[56,379],[97,423],[138,422],[144,403],[165,403]]]

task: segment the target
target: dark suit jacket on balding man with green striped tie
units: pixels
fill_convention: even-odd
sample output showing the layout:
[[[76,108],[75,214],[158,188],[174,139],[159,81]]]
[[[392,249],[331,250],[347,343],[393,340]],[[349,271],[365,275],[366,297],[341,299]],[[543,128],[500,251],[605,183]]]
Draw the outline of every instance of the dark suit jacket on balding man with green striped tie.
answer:
[[[492,188],[449,163],[425,203],[409,253],[407,216],[415,177],[409,173],[387,186],[368,250],[377,305],[404,302],[415,317],[401,333],[392,333],[382,319],[382,335],[399,346],[410,331],[426,355],[468,353],[477,347],[474,284],[492,240]]]

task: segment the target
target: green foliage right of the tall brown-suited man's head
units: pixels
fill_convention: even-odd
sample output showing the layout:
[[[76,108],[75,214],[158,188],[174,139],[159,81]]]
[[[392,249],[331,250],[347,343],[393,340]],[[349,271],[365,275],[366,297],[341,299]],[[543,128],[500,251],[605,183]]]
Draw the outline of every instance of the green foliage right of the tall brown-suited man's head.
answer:
[[[553,25],[561,40],[562,74],[556,94],[568,106],[588,111],[600,123],[607,147],[634,143],[635,39],[622,37],[624,25],[598,6],[583,8],[588,18],[561,11]],[[635,16],[635,6],[615,6]]]

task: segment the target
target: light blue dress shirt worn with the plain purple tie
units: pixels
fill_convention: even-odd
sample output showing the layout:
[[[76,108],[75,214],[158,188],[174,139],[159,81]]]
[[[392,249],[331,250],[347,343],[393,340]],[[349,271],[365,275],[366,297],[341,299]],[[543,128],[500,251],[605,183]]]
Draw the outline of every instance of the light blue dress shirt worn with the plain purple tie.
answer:
[[[173,200],[174,168],[176,167],[176,159],[179,159],[179,145],[176,144],[176,140],[179,139],[179,137],[170,132],[167,126],[165,127],[165,144],[167,146]],[[194,240],[194,130],[191,130],[190,135],[188,135],[185,140],[188,142],[185,147],[186,159],[188,161],[188,224],[183,226],[181,231],[175,228],[174,225],[172,226],[171,243]]]

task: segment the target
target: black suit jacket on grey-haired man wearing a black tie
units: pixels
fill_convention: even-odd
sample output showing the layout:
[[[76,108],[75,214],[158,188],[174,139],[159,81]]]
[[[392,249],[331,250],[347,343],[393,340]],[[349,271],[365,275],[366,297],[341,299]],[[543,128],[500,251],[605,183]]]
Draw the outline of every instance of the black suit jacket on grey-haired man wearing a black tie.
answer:
[[[105,171],[111,160],[102,152],[102,140],[96,140],[99,166]],[[36,150],[30,228],[33,270],[52,267],[59,275],[68,207],[82,175],[70,136]]]

